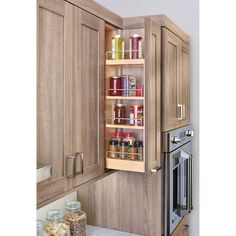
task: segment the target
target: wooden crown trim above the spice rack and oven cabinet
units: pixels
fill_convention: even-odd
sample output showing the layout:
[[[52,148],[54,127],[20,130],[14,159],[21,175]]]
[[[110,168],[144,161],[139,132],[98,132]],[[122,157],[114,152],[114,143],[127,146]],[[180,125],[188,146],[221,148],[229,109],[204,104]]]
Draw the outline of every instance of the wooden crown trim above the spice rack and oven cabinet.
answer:
[[[189,44],[189,36],[166,15],[125,17],[123,19],[123,29],[143,28],[145,25],[145,18],[150,18],[160,24],[161,27],[169,29],[172,33]]]

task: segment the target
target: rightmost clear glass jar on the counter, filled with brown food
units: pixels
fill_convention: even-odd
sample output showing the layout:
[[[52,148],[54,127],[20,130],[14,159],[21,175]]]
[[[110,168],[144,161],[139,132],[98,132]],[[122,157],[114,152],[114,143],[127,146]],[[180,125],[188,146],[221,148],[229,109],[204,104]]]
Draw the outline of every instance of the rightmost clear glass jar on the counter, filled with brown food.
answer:
[[[70,224],[71,236],[86,236],[86,213],[81,211],[80,202],[69,200],[65,203],[65,220]]]

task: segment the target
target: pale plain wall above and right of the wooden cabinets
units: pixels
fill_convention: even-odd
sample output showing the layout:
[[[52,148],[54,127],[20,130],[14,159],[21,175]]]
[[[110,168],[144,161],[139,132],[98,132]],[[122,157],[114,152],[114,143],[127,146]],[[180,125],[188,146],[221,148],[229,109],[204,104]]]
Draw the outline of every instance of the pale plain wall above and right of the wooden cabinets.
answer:
[[[165,14],[179,25],[191,39],[191,117],[194,126],[193,206],[191,235],[199,235],[199,6],[198,0],[97,0],[118,15],[143,16]]]

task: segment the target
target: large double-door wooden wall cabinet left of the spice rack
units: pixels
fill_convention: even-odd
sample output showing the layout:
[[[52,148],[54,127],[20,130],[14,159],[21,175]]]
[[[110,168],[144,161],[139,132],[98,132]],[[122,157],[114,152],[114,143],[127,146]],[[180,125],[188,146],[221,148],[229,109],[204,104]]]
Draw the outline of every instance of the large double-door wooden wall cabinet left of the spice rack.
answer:
[[[104,21],[38,1],[37,162],[51,167],[37,202],[104,173]]]

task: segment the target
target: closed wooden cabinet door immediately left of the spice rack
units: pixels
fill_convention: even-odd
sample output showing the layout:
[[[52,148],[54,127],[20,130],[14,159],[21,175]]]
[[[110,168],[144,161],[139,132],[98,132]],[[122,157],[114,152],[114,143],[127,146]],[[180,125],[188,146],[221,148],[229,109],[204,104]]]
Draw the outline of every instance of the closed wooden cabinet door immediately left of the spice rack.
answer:
[[[74,7],[74,185],[104,173],[104,21]],[[83,160],[82,160],[83,158]]]

